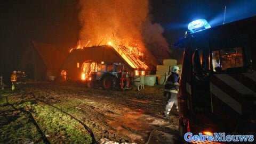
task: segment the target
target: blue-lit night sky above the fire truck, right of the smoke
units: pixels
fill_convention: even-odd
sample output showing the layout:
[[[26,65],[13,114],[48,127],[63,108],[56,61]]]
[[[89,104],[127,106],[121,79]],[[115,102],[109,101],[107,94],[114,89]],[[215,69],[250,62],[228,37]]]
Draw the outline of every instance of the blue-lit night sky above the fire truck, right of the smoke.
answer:
[[[169,44],[175,43],[187,31],[188,23],[196,19],[206,19],[212,27],[221,25],[226,8],[225,22],[256,15],[254,0],[215,0],[215,1],[151,1],[154,21],[165,29],[164,36]]]

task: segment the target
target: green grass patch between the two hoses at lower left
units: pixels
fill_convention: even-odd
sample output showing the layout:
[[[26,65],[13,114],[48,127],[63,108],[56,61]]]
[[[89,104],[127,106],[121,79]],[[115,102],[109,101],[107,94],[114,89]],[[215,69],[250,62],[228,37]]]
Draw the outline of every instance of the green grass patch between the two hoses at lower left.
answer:
[[[51,106],[35,106],[36,117],[45,134],[54,143],[91,143],[92,138],[84,127],[70,116]]]

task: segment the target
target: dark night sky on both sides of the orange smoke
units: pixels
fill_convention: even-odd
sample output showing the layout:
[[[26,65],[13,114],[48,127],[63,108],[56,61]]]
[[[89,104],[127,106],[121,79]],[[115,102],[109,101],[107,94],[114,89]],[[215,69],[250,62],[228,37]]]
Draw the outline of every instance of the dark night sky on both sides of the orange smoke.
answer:
[[[256,1],[151,0],[154,22],[160,23],[169,44],[187,30],[187,24],[205,18],[211,26],[256,15]],[[10,75],[27,41],[36,40],[73,47],[79,39],[78,0],[2,0],[0,4],[0,75]],[[9,77],[9,76],[8,76]]]

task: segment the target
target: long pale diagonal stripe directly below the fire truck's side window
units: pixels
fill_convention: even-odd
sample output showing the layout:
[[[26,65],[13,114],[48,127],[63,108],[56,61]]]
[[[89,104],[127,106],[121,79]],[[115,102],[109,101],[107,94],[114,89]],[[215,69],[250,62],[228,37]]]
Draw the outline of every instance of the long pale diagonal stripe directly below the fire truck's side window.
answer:
[[[223,82],[227,83],[228,86],[235,89],[237,92],[239,92],[242,95],[255,95],[255,92],[251,89],[244,86],[243,83],[239,82],[238,80],[234,79],[228,74],[215,74],[217,78],[222,80]]]

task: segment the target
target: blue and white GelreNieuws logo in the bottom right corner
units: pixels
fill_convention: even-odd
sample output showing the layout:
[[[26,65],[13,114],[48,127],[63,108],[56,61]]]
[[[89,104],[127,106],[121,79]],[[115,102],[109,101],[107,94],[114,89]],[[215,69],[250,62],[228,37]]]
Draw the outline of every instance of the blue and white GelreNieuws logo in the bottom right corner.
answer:
[[[191,141],[211,141],[211,142],[253,142],[254,135],[230,135],[225,132],[214,132],[213,135],[204,135],[203,133],[198,133],[193,135],[191,132],[187,132],[184,135],[184,139],[188,142]]]

